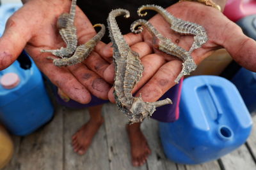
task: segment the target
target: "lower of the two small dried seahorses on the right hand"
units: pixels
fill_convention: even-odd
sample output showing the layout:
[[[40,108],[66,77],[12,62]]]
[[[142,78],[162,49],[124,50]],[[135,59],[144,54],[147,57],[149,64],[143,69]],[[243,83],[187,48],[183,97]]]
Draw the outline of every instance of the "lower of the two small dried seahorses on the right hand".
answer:
[[[140,25],[143,25],[148,29],[150,34],[153,36],[153,45],[157,47],[162,52],[168,53],[170,55],[175,55],[179,59],[183,61],[182,63],[182,71],[175,79],[175,83],[179,83],[180,78],[184,75],[188,75],[191,71],[194,71],[196,69],[196,64],[194,60],[192,59],[191,55],[188,51],[184,50],[184,48],[176,45],[172,42],[171,39],[165,38],[160,32],[156,30],[156,28],[150,24],[147,20],[136,20],[131,24],[131,32],[134,32],[136,34],[143,31],[143,27],[138,27]],[[139,29],[136,30],[136,27]]]

